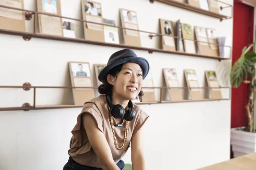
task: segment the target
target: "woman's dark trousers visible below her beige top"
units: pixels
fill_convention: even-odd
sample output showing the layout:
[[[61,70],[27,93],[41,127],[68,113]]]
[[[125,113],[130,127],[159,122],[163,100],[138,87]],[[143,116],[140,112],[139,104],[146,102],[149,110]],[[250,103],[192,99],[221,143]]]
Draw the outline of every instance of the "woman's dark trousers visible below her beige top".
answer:
[[[77,170],[102,170],[102,168],[88,167],[88,166],[85,166],[85,165],[78,164],[74,159],[72,159],[71,156],[69,156],[68,163],[73,168],[76,168]],[[125,167],[125,162],[120,160],[119,162],[117,162],[116,165],[117,165],[117,167],[120,168],[120,170],[122,170]]]

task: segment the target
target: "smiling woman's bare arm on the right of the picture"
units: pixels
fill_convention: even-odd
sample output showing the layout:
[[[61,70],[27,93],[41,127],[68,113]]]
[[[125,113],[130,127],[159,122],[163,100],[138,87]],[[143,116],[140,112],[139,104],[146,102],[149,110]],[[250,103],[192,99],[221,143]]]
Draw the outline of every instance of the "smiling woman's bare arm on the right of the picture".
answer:
[[[131,138],[131,161],[133,170],[145,170],[143,154],[143,128]]]

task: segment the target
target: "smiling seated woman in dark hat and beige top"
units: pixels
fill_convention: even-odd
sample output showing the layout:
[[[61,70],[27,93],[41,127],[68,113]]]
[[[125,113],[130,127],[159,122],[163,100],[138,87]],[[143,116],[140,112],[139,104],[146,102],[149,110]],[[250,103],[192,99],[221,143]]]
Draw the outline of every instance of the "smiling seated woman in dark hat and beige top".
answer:
[[[133,50],[110,56],[98,76],[101,96],[85,102],[78,115],[63,170],[122,170],[130,144],[133,170],[145,170],[141,129],[149,116],[131,100],[143,96],[148,71],[148,61]]]

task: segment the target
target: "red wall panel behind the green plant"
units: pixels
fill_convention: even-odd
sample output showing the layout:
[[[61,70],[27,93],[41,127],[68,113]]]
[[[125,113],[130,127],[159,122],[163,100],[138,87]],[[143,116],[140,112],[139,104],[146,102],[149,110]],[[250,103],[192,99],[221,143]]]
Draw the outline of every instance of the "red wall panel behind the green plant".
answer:
[[[241,56],[244,46],[253,43],[254,8],[240,0],[234,1],[233,12],[233,53],[232,65]],[[247,85],[232,88],[231,97],[231,128],[245,126],[247,102]]]

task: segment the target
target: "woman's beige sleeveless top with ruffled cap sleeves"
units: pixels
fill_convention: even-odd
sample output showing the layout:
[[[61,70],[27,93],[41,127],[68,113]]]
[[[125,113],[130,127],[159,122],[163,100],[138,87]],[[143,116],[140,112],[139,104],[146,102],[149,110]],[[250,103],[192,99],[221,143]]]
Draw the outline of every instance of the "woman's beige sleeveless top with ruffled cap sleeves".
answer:
[[[137,134],[146,119],[149,117],[148,114],[143,112],[138,105],[134,104],[134,109],[136,111],[136,116],[128,123],[127,143],[122,150],[117,150],[114,145],[113,132],[109,121],[109,112],[105,95],[95,97],[89,102],[84,103],[82,112],[78,115],[77,123],[72,130],[73,136],[70,140],[70,149],[68,150],[69,155],[81,165],[101,168],[101,162],[91,147],[86,131],[82,125],[82,114],[87,112],[93,115],[98,123],[99,129],[105,134],[114,161],[116,163],[120,161],[130,147],[131,138]],[[122,146],[125,135],[125,121],[123,121],[122,127],[114,128],[118,146]]]

